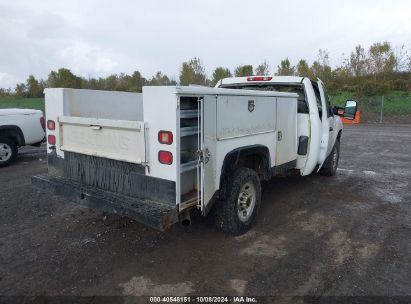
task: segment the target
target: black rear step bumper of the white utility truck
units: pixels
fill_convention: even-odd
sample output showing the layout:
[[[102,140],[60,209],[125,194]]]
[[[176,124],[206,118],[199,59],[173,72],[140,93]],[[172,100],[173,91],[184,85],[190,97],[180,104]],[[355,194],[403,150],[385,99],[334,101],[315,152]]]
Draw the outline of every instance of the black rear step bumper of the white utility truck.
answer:
[[[169,204],[117,194],[48,175],[33,176],[32,184],[82,206],[124,215],[160,231],[178,222],[177,207]]]

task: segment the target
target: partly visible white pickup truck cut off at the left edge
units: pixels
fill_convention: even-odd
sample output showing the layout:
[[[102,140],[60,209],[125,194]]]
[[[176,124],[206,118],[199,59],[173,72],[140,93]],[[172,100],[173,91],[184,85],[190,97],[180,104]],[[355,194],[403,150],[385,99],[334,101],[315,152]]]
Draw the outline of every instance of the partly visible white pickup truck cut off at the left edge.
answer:
[[[18,148],[40,146],[45,138],[43,112],[30,109],[0,109],[0,167],[16,159]]]

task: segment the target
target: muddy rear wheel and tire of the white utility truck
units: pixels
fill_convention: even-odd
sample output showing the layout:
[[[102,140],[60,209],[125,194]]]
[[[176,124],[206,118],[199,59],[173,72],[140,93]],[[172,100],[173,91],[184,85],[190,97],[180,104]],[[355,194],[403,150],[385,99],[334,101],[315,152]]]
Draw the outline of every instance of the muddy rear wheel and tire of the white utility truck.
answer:
[[[217,228],[233,235],[247,232],[253,225],[261,204],[261,183],[257,173],[239,168],[228,177],[224,196],[214,207]]]

